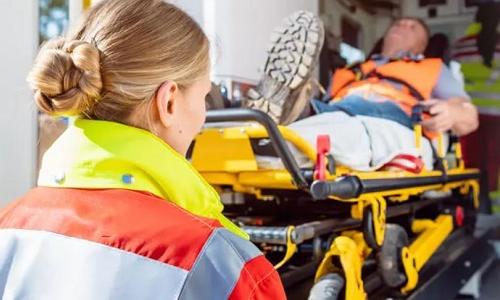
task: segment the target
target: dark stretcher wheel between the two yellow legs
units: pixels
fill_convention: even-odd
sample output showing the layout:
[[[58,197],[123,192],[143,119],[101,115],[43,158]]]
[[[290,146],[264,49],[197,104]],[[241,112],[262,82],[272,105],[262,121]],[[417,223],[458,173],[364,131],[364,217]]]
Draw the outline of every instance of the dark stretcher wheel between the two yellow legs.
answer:
[[[401,250],[408,244],[408,234],[403,227],[386,225],[384,244],[377,252],[377,266],[383,282],[391,288],[400,287],[406,282]]]

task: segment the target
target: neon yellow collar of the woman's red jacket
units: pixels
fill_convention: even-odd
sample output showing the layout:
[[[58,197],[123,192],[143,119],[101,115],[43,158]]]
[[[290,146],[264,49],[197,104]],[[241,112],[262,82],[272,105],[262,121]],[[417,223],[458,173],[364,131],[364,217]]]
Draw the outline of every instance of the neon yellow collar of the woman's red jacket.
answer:
[[[248,239],[222,215],[219,195],[183,156],[135,127],[76,120],[45,153],[38,185],[150,192]]]

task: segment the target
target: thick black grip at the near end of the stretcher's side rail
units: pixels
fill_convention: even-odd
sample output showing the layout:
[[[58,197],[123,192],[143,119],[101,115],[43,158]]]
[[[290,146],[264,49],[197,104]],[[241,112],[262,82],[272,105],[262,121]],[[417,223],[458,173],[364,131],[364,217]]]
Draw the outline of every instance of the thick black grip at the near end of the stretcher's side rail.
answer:
[[[357,176],[345,176],[336,180],[316,180],[311,185],[311,195],[315,200],[328,197],[340,199],[357,198],[363,192],[363,183]]]

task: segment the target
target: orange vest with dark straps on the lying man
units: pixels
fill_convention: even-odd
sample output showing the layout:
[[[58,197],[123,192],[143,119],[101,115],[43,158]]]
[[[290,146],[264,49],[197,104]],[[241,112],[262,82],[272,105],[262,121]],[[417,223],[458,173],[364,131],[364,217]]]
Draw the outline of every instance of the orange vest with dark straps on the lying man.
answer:
[[[332,77],[330,96],[334,101],[340,101],[353,91],[374,92],[396,103],[411,117],[416,104],[430,99],[442,66],[442,61],[435,58],[400,59],[380,66],[368,60],[337,70]]]

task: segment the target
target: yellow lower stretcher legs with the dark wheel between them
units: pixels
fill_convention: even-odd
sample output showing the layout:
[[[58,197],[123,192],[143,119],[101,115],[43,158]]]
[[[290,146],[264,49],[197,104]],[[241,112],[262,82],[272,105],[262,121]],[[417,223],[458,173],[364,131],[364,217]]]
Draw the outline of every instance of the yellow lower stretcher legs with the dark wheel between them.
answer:
[[[333,240],[320,263],[316,283],[328,274],[337,274],[345,280],[344,299],[366,299],[362,266],[371,251],[376,251],[378,272],[384,284],[408,294],[418,284],[418,272],[453,231],[453,223],[451,215],[414,220],[411,227],[417,236],[411,244],[403,227],[387,224],[384,243],[378,250],[365,242],[362,232],[343,232]]]

